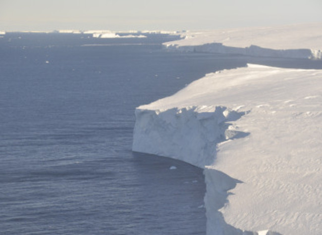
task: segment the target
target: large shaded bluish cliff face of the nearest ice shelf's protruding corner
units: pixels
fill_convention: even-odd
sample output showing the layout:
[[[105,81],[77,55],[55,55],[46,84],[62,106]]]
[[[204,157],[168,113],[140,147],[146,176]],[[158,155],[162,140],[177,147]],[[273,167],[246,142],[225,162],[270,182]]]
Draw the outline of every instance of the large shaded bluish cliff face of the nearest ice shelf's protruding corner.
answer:
[[[218,142],[241,136],[225,121],[238,113],[225,107],[136,109],[133,151],[172,157],[204,168],[213,163]]]

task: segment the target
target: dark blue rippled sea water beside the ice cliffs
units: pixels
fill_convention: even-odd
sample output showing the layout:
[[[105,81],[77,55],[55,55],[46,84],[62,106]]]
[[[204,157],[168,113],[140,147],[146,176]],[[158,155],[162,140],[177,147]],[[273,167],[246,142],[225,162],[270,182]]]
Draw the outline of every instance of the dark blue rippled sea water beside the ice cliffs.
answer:
[[[167,52],[165,35],[83,36],[0,38],[0,234],[205,234],[202,170],[132,152],[134,109],[276,59]]]

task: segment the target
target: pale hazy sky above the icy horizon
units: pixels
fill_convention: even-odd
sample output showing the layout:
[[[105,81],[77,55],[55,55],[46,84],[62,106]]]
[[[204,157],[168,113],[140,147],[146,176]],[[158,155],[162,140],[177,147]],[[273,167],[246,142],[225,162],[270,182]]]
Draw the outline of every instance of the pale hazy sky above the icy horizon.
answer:
[[[0,0],[0,30],[182,30],[322,22],[322,0]]]

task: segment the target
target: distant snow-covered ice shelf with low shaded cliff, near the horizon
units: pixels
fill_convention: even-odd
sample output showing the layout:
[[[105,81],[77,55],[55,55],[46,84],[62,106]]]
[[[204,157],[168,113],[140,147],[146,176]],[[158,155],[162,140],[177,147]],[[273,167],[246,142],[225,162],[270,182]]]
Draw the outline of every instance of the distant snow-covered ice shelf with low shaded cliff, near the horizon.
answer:
[[[322,24],[193,31],[167,49],[255,56],[322,58]]]

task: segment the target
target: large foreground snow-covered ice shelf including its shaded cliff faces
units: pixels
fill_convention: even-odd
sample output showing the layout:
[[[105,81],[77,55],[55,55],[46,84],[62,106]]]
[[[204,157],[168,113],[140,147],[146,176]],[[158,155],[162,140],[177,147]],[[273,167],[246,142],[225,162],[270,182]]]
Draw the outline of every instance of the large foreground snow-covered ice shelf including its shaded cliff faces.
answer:
[[[207,234],[322,234],[322,70],[208,74],[136,118],[134,151],[205,168]]]

